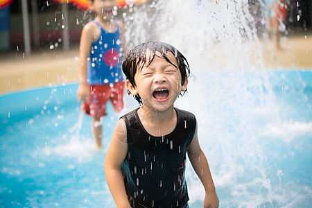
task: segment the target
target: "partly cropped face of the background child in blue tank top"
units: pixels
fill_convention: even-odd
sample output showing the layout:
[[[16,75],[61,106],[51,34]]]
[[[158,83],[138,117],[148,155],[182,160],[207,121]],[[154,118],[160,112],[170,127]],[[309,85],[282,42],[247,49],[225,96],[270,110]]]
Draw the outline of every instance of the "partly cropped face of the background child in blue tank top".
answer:
[[[112,17],[114,6],[117,6],[117,0],[94,0],[90,4],[90,8],[96,12],[96,16],[103,19],[110,19]]]

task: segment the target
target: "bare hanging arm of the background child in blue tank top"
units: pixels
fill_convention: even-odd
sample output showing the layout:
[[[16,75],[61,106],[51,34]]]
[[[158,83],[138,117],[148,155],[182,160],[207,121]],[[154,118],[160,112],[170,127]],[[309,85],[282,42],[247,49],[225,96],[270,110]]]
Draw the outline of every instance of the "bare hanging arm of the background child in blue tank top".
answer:
[[[89,85],[87,83],[87,58],[91,50],[92,40],[94,38],[92,25],[86,24],[83,27],[80,37],[80,46],[79,46],[79,62],[78,62],[78,71],[79,71],[79,82],[80,85],[77,91],[78,100],[83,100],[88,103],[89,98]]]

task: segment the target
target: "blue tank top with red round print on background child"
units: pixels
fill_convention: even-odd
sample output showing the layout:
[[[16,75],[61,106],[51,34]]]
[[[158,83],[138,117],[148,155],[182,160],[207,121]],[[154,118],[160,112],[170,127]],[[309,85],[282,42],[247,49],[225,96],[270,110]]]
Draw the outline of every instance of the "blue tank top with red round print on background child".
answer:
[[[94,19],[101,29],[101,35],[91,46],[89,66],[87,71],[87,83],[89,85],[104,85],[107,83],[119,83],[123,81],[121,71],[121,35],[119,26],[116,24],[114,33],[107,32]]]

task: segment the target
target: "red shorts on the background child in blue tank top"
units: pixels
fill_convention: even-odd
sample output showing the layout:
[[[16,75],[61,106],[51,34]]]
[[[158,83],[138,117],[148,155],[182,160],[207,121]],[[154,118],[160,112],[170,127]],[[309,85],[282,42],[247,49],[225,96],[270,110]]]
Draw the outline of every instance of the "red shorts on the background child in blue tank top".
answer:
[[[123,87],[125,83],[110,83],[106,85],[90,85],[89,103],[83,102],[81,109],[97,119],[106,116],[106,103],[112,102],[116,112],[123,109]]]

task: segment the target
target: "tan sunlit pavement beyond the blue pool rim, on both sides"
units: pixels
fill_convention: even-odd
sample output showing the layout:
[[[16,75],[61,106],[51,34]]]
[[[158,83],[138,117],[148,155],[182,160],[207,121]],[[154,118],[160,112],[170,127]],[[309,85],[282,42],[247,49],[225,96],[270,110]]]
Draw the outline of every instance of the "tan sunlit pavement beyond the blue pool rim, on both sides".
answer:
[[[262,58],[267,69],[312,70],[312,34],[282,38],[276,49],[272,40],[261,40]],[[78,49],[69,51],[1,53],[0,94],[47,85],[78,83]]]

